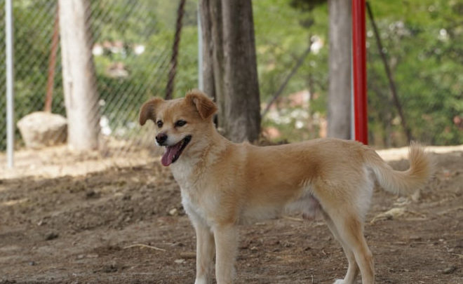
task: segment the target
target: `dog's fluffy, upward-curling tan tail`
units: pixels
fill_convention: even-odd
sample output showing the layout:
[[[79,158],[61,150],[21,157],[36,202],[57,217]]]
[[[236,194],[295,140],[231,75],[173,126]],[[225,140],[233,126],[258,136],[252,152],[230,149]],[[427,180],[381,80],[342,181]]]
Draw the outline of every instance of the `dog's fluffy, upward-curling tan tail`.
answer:
[[[420,144],[410,144],[410,168],[398,171],[391,168],[373,149],[364,152],[365,162],[375,173],[381,187],[394,194],[411,194],[422,187],[433,173],[433,163]]]

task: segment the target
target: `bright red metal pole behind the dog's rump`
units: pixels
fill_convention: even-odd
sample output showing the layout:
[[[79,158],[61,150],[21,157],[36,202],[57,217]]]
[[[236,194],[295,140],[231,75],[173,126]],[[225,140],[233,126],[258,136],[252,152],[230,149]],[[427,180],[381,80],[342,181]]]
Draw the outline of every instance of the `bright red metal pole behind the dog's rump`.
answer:
[[[365,0],[352,0],[352,74],[355,139],[368,144],[366,97]]]

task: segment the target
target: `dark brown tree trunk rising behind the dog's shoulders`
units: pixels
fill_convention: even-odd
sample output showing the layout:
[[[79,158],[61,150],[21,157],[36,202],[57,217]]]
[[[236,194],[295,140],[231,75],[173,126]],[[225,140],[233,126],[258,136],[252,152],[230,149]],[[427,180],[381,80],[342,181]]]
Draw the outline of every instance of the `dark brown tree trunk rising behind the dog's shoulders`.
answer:
[[[210,18],[212,39],[203,46],[212,49],[212,62],[204,65],[213,66],[219,128],[231,141],[253,142],[260,133],[260,96],[251,1],[203,0],[201,10],[203,27],[205,15]]]

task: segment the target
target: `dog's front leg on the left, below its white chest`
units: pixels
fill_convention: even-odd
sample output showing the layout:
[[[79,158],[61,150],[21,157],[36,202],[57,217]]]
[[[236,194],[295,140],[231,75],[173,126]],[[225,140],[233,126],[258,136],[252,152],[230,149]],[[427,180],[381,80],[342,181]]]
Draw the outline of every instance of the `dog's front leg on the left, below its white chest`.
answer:
[[[208,284],[214,265],[214,236],[206,224],[196,224],[196,280],[194,284]]]

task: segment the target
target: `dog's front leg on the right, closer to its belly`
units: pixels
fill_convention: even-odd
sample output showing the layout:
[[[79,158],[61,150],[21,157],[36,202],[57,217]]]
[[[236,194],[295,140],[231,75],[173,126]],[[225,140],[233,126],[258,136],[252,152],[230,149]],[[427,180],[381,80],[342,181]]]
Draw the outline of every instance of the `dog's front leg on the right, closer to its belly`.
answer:
[[[214,227],[215,278],[217,284],[231,284],[234,278],[234,262],[238,245],[238,229],[234,224]]]

